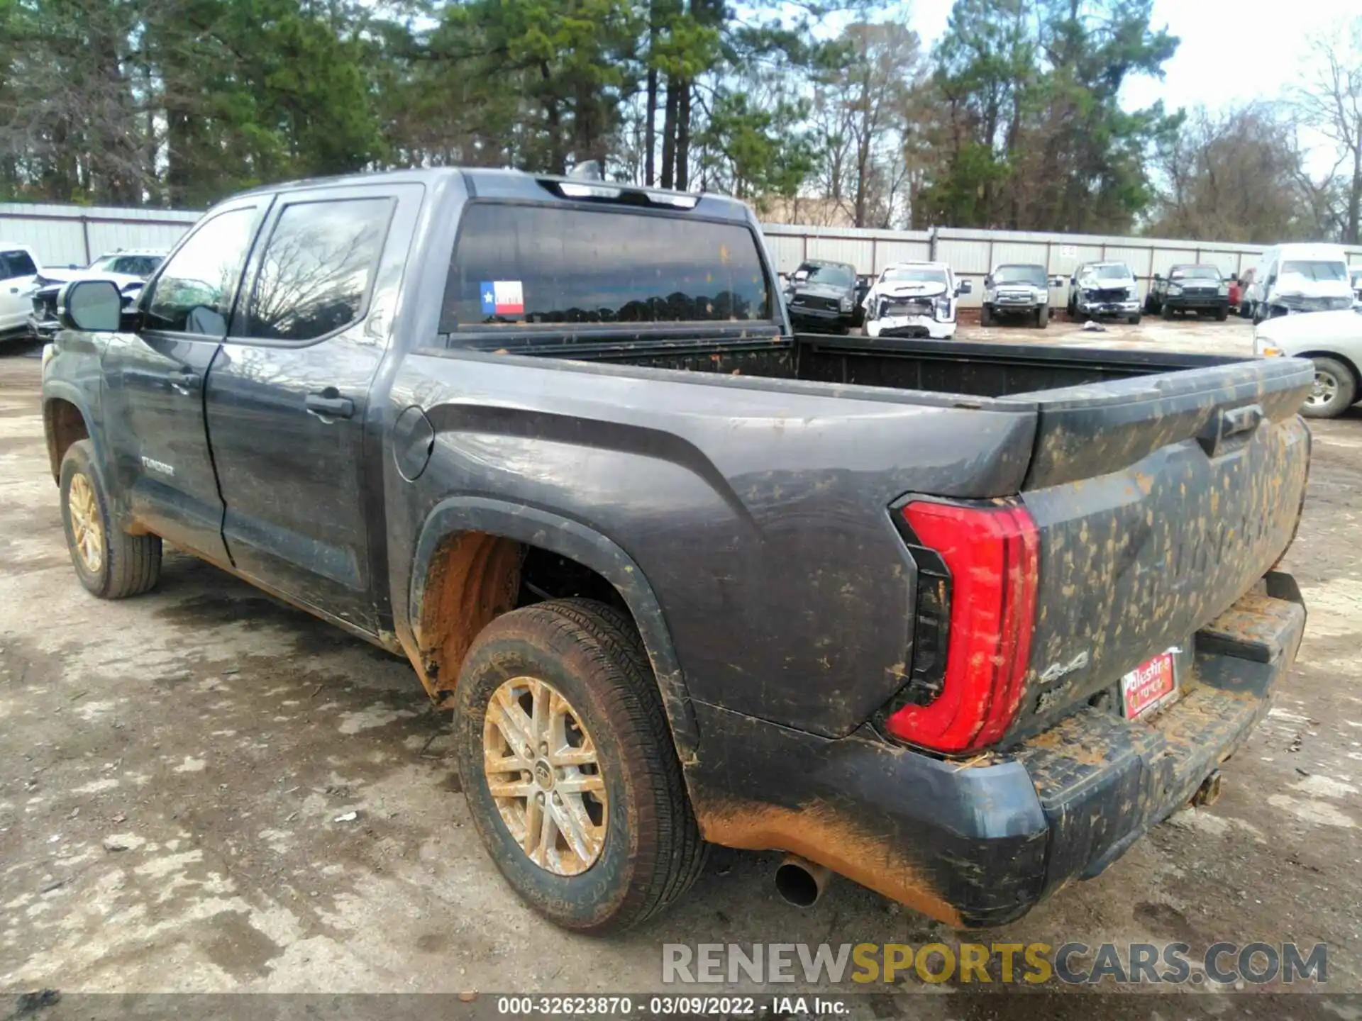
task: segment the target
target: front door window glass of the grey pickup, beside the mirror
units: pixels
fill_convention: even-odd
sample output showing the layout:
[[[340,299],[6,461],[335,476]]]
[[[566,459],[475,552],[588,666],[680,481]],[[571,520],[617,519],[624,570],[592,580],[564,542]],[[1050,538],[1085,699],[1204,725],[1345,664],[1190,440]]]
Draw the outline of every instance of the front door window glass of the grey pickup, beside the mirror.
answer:
[[[255,208],[227,210],[170,257],[146,305],[147,329],[223,336],[241,264],[255,234]]]

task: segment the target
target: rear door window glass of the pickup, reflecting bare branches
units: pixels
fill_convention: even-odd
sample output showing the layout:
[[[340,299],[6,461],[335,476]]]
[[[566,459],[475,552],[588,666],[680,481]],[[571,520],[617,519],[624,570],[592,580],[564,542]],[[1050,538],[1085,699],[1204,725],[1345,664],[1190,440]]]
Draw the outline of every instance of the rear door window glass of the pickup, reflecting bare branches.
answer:
[[[242,335],[302,343],[357,321],[391,215],[387,196],[286,206],[264,249]]]

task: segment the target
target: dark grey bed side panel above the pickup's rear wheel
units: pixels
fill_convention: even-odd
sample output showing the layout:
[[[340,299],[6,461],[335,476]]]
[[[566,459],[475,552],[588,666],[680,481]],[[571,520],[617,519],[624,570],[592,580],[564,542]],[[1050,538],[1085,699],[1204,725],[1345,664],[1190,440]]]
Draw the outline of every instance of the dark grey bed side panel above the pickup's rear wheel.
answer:
[[[433,349],[394,403],[434,427],[414,483],[385,459],[395,595],[443,498],[548,509],[639,565],[691,698],[829,736],[906,679],[915,577],[889,504],[1015,493],[1034,427],[932,395]]]

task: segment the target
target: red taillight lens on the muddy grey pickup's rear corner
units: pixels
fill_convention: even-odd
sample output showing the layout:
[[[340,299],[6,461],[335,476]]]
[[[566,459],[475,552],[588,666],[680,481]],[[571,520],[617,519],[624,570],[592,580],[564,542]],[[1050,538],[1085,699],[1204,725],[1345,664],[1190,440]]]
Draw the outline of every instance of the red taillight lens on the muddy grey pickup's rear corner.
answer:
[[[903,516],[951,572],[949,637],[940,693],[904,705],[889,732],[938,751],[968,751],[1000,736],[1016,716],[1031,656],[1039,540],[1017,504],[911,502]]]

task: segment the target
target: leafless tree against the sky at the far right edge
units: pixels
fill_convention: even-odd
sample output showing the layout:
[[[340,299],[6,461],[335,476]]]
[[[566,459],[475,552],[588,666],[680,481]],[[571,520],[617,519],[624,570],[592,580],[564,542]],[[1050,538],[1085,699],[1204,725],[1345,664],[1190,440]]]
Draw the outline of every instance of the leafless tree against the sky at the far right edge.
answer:
[[[1333,143],[1344,176],[1344,244],[1362,219],[1362,16],[1310,41],[1314,75],[1297,91],[1302,120]]]

